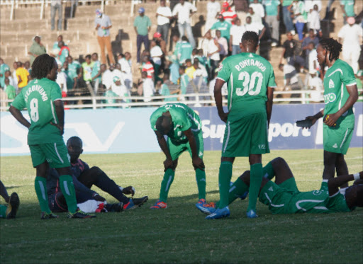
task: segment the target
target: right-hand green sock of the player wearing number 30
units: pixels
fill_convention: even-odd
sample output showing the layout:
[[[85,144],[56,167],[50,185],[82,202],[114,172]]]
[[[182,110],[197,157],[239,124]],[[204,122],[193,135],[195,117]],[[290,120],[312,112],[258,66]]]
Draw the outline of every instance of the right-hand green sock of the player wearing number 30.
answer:
[[[250,173],[250,193],[248,197],[248,208],[247,212],[250,210],[256,211],[257,197],[259,194],[259,188],[262,183],[262,164],[255,163],[251,165]]]

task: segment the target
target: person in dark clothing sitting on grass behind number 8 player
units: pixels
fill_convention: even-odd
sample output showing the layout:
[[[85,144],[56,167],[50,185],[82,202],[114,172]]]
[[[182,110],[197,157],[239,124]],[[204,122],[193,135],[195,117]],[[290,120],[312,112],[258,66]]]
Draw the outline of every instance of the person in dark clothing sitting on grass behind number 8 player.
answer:
[[[126,197],[124,194],[132,196],[135,194],[135,188],[133,186],[121,188],[101,168],[96,166],[89,168],[86,162],[79,159],[79,156],[83,152],[82,147],[83,142],[79,137],[70,137],[67,141],[77,204],[81,210],[85,212],[100,212],[100,210],[101,212],[121,212],[122,210],[139,207],[147,201],[147,196],[141,198]],[[51,169],[50,173],[48,173],[48,200],[52,212],[67,211],[65,197],[60,192],[59,184],[57,171]],[[120,202],[112,205],[106,204],[104,197],[101,197],[94,190],[91,190],[92,185],[96,185]]]

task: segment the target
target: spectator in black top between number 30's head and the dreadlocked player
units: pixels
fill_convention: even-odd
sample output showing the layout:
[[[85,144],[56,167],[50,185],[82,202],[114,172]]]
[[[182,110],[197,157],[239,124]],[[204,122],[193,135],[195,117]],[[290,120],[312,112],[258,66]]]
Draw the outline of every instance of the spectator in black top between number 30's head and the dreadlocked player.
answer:
[[[280,64],[282,64],[282,60],[285,58],[286,62],[293,67],[295,64],[299,64],[301,71],[303,71],[305,61],[301,56],[298,55],[298,42],[294,40],[291,32],[288,32],[286,36],[287,40],[285,40],[284,44],[282,45],[284,49],[282,50]]]

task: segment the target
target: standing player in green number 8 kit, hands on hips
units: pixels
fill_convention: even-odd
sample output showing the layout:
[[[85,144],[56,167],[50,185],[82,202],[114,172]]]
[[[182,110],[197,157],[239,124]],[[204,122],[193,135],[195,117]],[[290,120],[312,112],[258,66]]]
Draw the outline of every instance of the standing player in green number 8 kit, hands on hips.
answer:
[[[31,76],[33,81],[21,89],[9,108],[13,117],[28,128],[28,145],[33,167],[36,168],[35,193],[38,196],[41,219],[57,218],[48,206],[47,171],[49,166],[60,175],[60,188],[68,205],[69,218],[94,217],[77,208],[67,147],[63,141],[65,108],[57,79],[57,62],[48,54],[35,58]],[[21,113],[28,109],[30,122]]]

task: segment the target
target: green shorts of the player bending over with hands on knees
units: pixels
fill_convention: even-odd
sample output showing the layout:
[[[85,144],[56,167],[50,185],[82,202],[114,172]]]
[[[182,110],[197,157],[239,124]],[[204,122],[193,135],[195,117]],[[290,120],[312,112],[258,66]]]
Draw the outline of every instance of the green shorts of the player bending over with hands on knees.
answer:
[[[203,159],[203,154],[204,154],[203,132],[199,131],[198,133],[194,134],[194,138],[196,139],[196,151],[198,153],[198,156],[199,156],[199,158]],[[168,138],[167,146],[169,147],[170,155],[172,155],[173,161],[178,159],[179,156],[186,150],[189,151],[189,154],[191,156],[191,149],[190,149],[189,141],[176,144],[176,143],[173,143],[170,140],[170,138]]]

